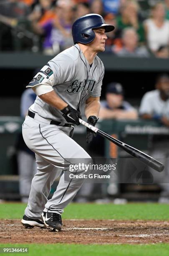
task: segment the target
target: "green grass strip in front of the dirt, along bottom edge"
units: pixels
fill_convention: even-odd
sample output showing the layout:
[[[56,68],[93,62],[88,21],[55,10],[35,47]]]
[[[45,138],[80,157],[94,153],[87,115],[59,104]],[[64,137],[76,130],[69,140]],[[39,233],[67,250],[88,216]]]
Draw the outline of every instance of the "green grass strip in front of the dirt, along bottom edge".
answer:
[[[0,244],[0,247],[28,247],[31,256],[168,256],[169,244],[81,245],[81,244]],[[15,255],[21,255],[15,253]],[[22,254],[23,255],[23,254]]]

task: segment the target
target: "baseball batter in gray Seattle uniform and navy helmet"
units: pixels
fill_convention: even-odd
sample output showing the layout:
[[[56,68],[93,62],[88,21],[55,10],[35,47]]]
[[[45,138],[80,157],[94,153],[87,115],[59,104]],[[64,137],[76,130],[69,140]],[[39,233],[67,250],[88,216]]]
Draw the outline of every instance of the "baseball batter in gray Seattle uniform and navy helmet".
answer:
[[[78,164],[81,159],[83,163],[91,161],[71,137],[74,126],[80,124],[82,110],[88,123],[96,125],[104,75],[103,63],[96,55],[105,50],[106,32],[113,30],[114,26],[105,24],[101,15],[78,18],[72,27],[74,46],[51,59],[27,86],[38,97],[23,123],[23,138],[35,152],[38,167],[21,220],[25,227],[61,230],[63,209],[83,184],[82,179],[64,179],[70,164]],[[86,141],[92,139],[93,132],[88,129]],[[83,172],[85,169],[76,170],[76,174]],[[60,175],[57,189],[48,200],[50,187]]]

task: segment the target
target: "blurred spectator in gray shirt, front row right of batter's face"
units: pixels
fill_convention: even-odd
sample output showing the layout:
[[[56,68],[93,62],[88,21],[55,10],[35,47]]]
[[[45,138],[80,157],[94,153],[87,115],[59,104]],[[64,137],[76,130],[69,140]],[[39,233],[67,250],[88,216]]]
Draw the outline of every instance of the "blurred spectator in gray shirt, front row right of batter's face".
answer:
[[[122,33],[123,47],[114,51],[118,56],[124,57],[149,57],[150,54],[145,46],[138,46],[139,37],[134,28],[125,28]]]

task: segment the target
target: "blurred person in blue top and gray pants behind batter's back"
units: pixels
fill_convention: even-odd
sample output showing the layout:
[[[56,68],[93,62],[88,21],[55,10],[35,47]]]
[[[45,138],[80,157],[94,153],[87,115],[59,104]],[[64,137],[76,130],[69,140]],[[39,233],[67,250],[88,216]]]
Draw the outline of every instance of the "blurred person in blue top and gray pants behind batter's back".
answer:
[[[33,104],[35,98],[36,95],[32,89],[26,89],[23,92],[20,102],[20,113],[22,118],[25,118],[25,115],[27,115],[28,108]],[[21,201],[27,203],[31,182],[36,172],[35,154],[25,145],[22,133],[20,133],[18,138],[17,149],[19,192]]]

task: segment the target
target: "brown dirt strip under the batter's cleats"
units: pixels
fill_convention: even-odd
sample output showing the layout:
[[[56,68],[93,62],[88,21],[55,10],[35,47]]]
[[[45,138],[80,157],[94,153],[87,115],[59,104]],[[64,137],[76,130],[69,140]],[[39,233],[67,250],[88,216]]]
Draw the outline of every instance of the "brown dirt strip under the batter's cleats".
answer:
[[[61,232],[0,220],[0,243],[169,243],[169,221],[64,220]]]

